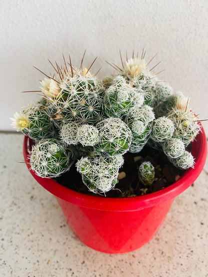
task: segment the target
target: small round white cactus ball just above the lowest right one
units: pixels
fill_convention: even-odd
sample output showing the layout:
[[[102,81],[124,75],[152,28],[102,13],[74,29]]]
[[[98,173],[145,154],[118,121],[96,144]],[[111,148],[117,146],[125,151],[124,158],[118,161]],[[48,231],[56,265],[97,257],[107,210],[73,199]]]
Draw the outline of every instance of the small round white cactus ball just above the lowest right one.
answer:
[[[183,142],[177,138],[166,140],[162,145],[162,149],[164,154],[170,158],[178,158],[185,152]]]

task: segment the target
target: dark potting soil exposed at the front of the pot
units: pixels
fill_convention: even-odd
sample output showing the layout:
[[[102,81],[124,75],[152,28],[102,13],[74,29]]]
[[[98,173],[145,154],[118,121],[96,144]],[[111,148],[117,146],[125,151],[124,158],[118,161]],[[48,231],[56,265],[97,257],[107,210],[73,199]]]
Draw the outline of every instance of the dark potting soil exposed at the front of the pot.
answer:
[[[189,150],[190,149],[186,149]],[[119,170],[119,182],[114,189],[104,194],[96,194],[96,196],[122,198],[133,197],[144,194],[156,192],[177,181],[184,170],[174,167],[166,158],[166,156],[158,150],[145,146],[139,153],[124,154],[124,164]],[[149,161],[155,169],[155,178],[151,186],[144,186],[138,180],[138,167],[144,162]],[[123,178],[124,177],[124,178]],[[76,171],[75,165],[70,170],[54,180],[77,192],[85,193],[87,195],[95,195],[89,192],[87,187],[83,184],[80,174]]]

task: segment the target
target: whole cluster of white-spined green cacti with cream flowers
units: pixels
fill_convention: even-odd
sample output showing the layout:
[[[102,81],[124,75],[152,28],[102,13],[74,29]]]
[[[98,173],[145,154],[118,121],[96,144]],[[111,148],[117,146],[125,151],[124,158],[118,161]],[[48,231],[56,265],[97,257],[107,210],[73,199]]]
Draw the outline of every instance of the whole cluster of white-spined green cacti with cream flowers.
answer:
[[[12,119],[34,141],[30,166],[36,174],[57,177],[75,164],[87,188],[105,194],[118,182],[123,154],[138,153],[145,144],[175,167],[193,167],[185,147],[200,131],[197,117],[187,97],[158,81],[144,55],[121,58],[122,66],[113,66],[116,74],[104,81],[91,72],[94,61],[88,69],[83,58],[79,68],[65,59],[63,66],[52,65],[55,75],[44,74],[40,82],[41,99]],[[142,163],[138,177],[151,185],[153,166]]]

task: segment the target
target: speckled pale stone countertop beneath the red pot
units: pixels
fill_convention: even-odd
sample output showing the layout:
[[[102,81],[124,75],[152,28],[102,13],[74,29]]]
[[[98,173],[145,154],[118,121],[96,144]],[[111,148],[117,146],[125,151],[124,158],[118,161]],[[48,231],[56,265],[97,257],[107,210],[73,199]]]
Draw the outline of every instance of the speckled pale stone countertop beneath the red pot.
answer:
[[[111,255],[73,235],[56,199],[18,163],[22,141],[19,134],[0,134],[0,276],[208,276],[208,162],[148,244]]]

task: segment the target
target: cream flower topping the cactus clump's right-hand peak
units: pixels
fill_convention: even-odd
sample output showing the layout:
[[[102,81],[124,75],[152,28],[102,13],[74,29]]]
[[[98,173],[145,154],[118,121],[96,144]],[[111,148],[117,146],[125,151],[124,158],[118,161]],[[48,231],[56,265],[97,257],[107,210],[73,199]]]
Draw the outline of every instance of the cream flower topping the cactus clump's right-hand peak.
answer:
[[[141,72],[147,72],[147,65],[144,59],[134,58],[126,61],[124,69],[132,77],[137,77]]]

